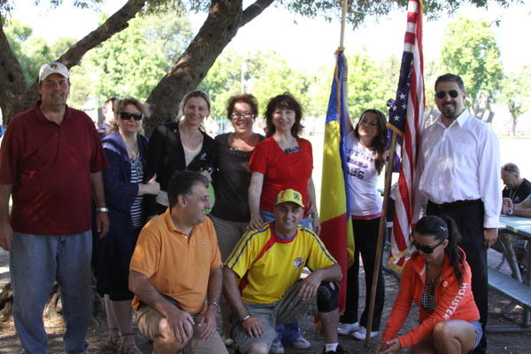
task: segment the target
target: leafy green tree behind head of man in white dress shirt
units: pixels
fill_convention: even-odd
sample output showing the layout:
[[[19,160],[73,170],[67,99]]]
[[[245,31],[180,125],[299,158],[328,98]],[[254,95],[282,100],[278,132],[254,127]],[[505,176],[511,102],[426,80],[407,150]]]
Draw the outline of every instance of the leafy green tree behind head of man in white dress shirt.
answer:
[[[458,74],[465,81],[474,112],[482,104],[489,106],[495,102],[504,72],[489,22],[466,18],[452,22],[443,41],[441,57],[443,70]]]

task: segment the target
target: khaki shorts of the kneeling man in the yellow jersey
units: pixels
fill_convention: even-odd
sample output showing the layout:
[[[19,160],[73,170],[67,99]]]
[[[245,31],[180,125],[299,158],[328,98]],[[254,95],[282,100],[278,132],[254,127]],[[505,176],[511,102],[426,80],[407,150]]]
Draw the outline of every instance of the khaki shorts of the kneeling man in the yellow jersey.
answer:
[[[284,295],[284,298],[272,304],[250,304],[244,303],[253,317],[258,317],[262,323],[264,334],[259,338],[250,337],[247,331],[242,328],[240,319],[234,318],[231,313],[229,320],[233,324],[231,337],[235,340],[236,348],[242,353],[250,350],[255,344],[266,343],[271,346],[277,337],[276,325],[297,322],[303,320],[308,309],[315,303],[315,298],[303,300],[298,296],[299,285],[302,281],[295,282]]]

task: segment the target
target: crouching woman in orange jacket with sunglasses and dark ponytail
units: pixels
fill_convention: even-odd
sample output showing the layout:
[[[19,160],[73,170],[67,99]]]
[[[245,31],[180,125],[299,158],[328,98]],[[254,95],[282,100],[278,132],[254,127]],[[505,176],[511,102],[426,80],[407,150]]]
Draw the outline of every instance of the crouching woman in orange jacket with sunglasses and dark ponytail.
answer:
[[[405,263],[400,290],[376,354],[411,347],[412,354],[466,354],[481,340],[480,313],[473,301],[472,273],[456,223],[448,216],[426,216],[413,230],[417,251]],[[412,302],[419,326],[396,336]]]

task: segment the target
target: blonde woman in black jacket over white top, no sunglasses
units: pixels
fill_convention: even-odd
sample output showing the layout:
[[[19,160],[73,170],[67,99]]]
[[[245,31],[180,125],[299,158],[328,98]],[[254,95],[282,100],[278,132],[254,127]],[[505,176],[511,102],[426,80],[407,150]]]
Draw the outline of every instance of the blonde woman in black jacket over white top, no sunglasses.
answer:
[[[177,122],[159,125],[151,134],[148,146],[148,176],[157,176],[160,192],[149,198],[148,217],[165,212],[168,207],[166,187],[176,171],[202,171],[211,180],[214,139],[203,129],[205,117],[210,115],[211,102],[203,91],[185,94],[179,106]]]

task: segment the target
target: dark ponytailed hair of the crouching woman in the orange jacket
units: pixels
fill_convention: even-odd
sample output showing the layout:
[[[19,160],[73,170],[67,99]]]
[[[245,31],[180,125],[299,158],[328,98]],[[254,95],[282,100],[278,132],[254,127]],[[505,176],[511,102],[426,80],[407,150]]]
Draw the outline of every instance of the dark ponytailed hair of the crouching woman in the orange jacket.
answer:
[[[417,222],[415,232],[419,235],[434,236],[437,241],[448,239],[448,245],[444,248],[444,252],[448,254],[451,267],[453,267],[454,273],[459,283],[461,283],[463,280],[462,269],[465,268],[465,265],[463,264],[463,254],[458,249],[458,245],[461,242],[461,234],[456,222],[447,215],[428,215]]]

